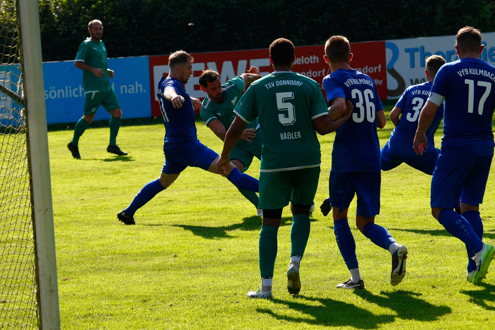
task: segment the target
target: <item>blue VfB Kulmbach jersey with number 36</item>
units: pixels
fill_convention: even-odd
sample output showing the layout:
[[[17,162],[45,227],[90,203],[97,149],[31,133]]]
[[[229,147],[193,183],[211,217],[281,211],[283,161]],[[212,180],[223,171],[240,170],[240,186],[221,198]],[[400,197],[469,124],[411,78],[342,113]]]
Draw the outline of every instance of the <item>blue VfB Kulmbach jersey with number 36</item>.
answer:
[[[383,106],[373,79],[353,69],[339,69],[323,78],[323,88],[329,103],[344,97],[354,105],[351,116],[336,132],[331,170],[380,173],[376,114]]]

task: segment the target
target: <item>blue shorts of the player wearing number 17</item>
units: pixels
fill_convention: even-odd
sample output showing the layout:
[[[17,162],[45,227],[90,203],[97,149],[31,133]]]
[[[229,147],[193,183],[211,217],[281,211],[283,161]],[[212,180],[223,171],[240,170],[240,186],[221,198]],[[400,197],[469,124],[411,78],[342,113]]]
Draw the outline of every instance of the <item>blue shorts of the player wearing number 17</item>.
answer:
[[[446,157],[440,155],[433,173],[431,207],[454,208],[460,201],[483,203],[493,156]]]

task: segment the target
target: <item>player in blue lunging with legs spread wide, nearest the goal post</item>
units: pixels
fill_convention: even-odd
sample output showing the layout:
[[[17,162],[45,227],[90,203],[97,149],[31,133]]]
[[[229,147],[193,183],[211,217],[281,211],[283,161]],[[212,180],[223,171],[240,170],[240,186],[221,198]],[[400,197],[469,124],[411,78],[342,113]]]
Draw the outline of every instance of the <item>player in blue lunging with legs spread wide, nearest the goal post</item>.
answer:
[[[131,204],[117,214],[117,218],[126,225],[134,225],[136,210],[158,192],[167,189],[188,166],[221,174],[216,169],[220,156],[199,142],[196,134],[194,108],[199,108],[201,101],[190,97],[183,87],[193,74],[192,62],[193,58],[184,50],[178,50],[168,58],[170,73],[167,78],[161,77],[156,94],[165,125],[165,164],[160,177],[146,184]],[[229,164],[229,173],[227,179],[236,187],[258,191],[258,180],[239,172],[232,163]]]

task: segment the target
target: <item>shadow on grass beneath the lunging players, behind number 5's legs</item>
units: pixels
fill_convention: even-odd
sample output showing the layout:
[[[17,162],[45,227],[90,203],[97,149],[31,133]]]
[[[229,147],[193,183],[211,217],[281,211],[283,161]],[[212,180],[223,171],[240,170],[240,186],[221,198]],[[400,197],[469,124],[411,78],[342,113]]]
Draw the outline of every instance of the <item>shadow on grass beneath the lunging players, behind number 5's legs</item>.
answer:
[[[316,219],[310,218],[310,221],[316,221]],[[291,226],[292,217],[282,218],[280,227]],[[243,231],[259,231],[261,230],[261,218],[258,216],[244,218],[239,224],[233,224],[229,226],[220,227],[210,227],[210,226],[190,226],[190,225],[172,225],[174,227],[180,227],[184,230],[191,231],[196,236],[201,236],[203,238],[214,239],[214,238],[232,238],[229,232],[235,230]]]

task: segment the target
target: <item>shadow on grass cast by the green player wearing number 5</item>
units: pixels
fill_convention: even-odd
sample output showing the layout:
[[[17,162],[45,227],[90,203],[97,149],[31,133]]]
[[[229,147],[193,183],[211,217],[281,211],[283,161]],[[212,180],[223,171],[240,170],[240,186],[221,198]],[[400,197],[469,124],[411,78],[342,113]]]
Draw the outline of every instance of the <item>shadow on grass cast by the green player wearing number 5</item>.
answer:
[[[305,300],[317,301],[318,306],[307,305]],[[257,312],[265,313],[277,320],[285,320],[295,323],[306,323],[312,326],[332,326],[332,327],[353,327],[356,329],[378,329],[379,325],[392,323],[395,320],[393,315],[375,315],[365,309],[356,307],[353,304],[333,300],[330,298],[311,298],[297,296],[290,300],[272,299],[275,304],[286,305],[288,308],[304,314],[306,317],[291,317],[284,314],[277,314],[272,309],[258,308]]]

